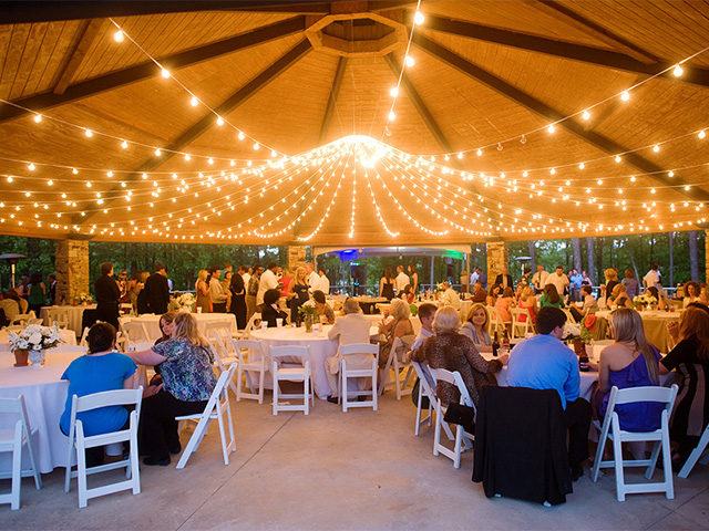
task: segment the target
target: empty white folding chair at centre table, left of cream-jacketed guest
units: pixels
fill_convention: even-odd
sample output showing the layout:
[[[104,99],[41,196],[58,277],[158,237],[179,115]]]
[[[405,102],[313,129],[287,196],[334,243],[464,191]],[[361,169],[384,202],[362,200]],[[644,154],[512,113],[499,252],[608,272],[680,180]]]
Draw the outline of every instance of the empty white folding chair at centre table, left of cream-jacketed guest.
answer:
[[[302,365],[291,365],[282,358],[299,357]],[[315,407],[312,381],[310,376],[310,347],[300,345],[274,346],[270,348],[271,376],[274,378],[274,415],[278,412],[310,413],[309,402]],[[284,363],[285,362],[285,363]],[[302,382],[302,394],[281,393],[280,382]],[[279,404],[279,398],[302,399],[302,404]]]

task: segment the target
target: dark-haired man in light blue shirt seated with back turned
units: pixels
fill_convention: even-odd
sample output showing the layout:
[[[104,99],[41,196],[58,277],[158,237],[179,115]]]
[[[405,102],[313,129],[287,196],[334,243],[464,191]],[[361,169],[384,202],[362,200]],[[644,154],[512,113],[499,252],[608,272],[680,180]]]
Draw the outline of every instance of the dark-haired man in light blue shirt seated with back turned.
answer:
[[[588,459],[592,409],[587,400],[578,397],[578,358],[561,341],[565,322],[566,314],[557,308],[540,310],[536,315],[538,335],[517,343],[510,354],[507,385],[558,393],[568,429],[568,464],[572,479],[576,481],[584,473],[582,462]]]

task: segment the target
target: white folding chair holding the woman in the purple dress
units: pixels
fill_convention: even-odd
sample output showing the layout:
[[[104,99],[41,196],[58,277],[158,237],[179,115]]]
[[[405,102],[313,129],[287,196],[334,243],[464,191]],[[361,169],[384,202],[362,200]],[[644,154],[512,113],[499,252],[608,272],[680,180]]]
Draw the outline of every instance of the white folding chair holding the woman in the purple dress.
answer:
[[[592,469],[592,479],[594,482],[598,479],[598,472],[602,468],[614,467],[616,470],[616,496],[618,501],[625,501],[626,494],[644,493],[644,492],[665,492],[668,500],[675,498],[675,488],[672,485],[672,462],[669,449],[669,416],[672,413],[675,398],[677,397],[677,385],[671,387],[647,386],[630,387],[627,389],[610,389],[608,398],[608,409],[603,423],[603,427],[598,420],[594,420],[594,426],[600,433],[598,437],[598,447],[596,450],[596,459]],[[626,431],[620,429],[618,414],[615,407],[620,404],[630,404],[634,402],[658,402],[665,404],[660,417],[660,427],[654,431]],[[606,440],[613,441],[614,459],[609,461],[603,460],[603,451]],[[623,459],[623,442],[629,441],[655,441],[653,454],[649,459]],[[665,480],[662,482],[651,483],[626,483],[624,478],[624,467],[647,467],[645,477],[650,479],[657,465],[657,458],[660,449],[662,450],[662,467]]]

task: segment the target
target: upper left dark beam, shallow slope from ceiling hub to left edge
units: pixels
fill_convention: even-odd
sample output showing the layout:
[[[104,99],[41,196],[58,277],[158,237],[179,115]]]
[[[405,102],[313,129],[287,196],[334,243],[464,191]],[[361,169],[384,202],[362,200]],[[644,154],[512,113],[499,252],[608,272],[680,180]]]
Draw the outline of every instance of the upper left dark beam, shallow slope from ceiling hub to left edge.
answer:
[[[140,2],[136,2],[140,3]],[[277,39],[281,39],[294,33],[302,32],[306,29],[305,17],[295,17],[281,22],[265,25],[256,30],[236,35],[223,41],[206,44],[204,46],[195,48],[184,52],[174,53],[165,58],[158,59],[161,64],[164,64],[172,72],[193,66],[204,61],[226,55],[233,52],[247,50],[259,44],[264,44]],[[14,105],[19,105],[19,108],[13,105],[3,105],[0,107],[0,124],[10,119],[24,116],[28,113],[42,113],[49,108],[72,103],[85,97],[101,94],[105,91],[119,88],[133,83],[156,77],[160,75],[157,66],[152,61],[141,63],[135,66],[120,70],[117,72],[111,72],[92,80],[82,81],[73,85],[69,85],[63,94],[54,94],[52,92],[38,94],[34,96],[16,100],[12,102]],[[25,108],[31,110],[30,112]]]

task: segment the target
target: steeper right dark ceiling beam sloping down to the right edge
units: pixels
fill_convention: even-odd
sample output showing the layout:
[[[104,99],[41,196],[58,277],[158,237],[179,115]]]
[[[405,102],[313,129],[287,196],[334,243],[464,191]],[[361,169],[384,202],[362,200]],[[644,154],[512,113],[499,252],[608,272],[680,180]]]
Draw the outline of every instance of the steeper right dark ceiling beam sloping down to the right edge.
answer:
[[[586,131],[582,124],[575,122],[572,118],[563,119],[566,117],[565,114],[556,111],[555,108],[552,108],[544,102],[536,100],[530,94],[511,85],[506,81],[501,80],[494,74],[491,74],[490,72],[471,63],[466,59],[461,58],[460,55],[432,41],[425,35],[421,33],[414,33],[413,43],[442,63],[458,70],[459,72],[475,80],[476,82],[482,83],[486,87],[495,91],[497,94],[502,94],[514,103],[525,107],[527,111],[533,112],[537,116],[541,116],[554,123],[561,121],[556,124],[558,127],[572,133],[576,137],[596,147],[597,149],[600,149],[608,155],[625,153],[625,155],[623,155],[623,160],[627,165],[643,171],[649,178],[657,180],[665,186],[671,186],[675,191],[692,200],[709,201],[709,192],[705,191],[703,189],[693,187],[690,188],[690,190],[685,190],[682,185],[685,185],[686,183],[678,180],[677,177],[674,177],[671,179],[667,177],[666,168],[658,166],[657,164],[646,159],[637,153],[626,153],[629,150],[627,147],[617,144],[606,136],[599,135],[598,133]]]

